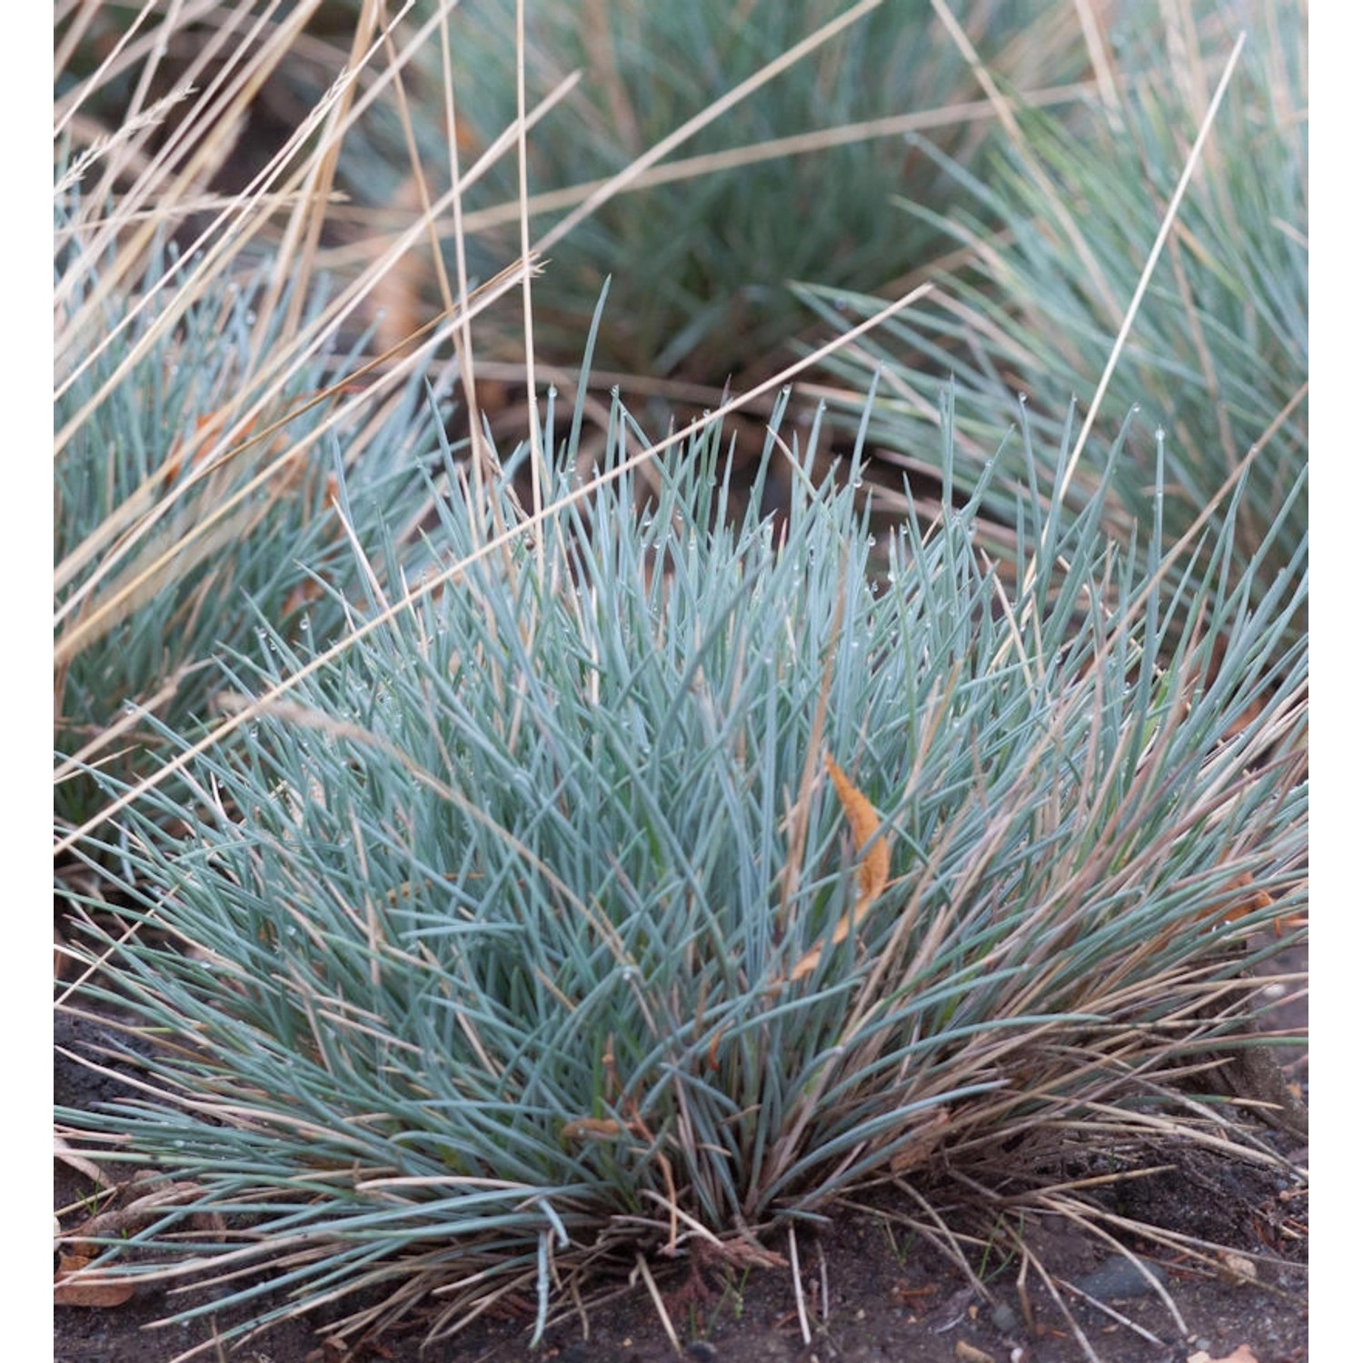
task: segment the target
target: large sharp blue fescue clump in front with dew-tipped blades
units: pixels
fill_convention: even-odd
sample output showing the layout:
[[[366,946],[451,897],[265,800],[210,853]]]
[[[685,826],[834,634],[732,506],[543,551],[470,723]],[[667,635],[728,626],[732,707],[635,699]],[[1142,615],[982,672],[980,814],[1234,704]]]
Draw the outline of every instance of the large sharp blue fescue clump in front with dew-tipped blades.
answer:
[[[532,518],[446,450],[442,571],[361,563],[349,641],[228,665],[189,799],[80,844],[127,905],[82,994],[154,1044],[59,1119],[177,1179],[112,1257],[263,1264],[258,1322],[380,1288],[342,1333],[523,1293],[542,1329],[608,1264],[774,1262],[853,1187],[930,1197],[945,1152],[1254,1149],[1198,1073],[1304,895],[1304,572],[1251,600],[1223,532],[1175,575],[1035,481],[991,559],[988,470],[875,544],[782,405],[789,500],[737,522],[718,423],[647,465],[616,403]]]

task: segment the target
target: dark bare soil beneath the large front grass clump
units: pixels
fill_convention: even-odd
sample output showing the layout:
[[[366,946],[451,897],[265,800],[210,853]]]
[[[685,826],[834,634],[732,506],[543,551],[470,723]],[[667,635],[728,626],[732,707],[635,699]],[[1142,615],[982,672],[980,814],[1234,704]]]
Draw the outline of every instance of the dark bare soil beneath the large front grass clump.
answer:
[[[1285,962],[1287,969],[1303,966],[1304,949],[1299,960]],[[1304,995],[1284,998],[1278,1011],[1278,1025],[1304,1028]],[[80,1048],[97,1032],[94,1022],[59,1017],[63,1045]],[[1304,1059],[1292,1066],[1289,1078],[1306,1088]],[[106,1096],[101,1085],[110,1082],[59,1060],[57,1101],[97,1101]],[[1278,1133],[1266,1139],[1292,1165],[1304,1168],[1307,1152],[1299,1141]],[[799,1295],[789,1268],[754,1272],[741,1281],[682,1266],[671,1277],[656,1274],[682,1358],[701,1363],[1184,1363],[1199,1352],[1209,1360],[1225,1359],[1243,1345],[1257,1363],[1304,1363],[1304,1182],[1288,1168],[1186,1146],[1152,1153],[1168,1168],[1115,1184],[1105,1194],[1109,1208],[1133,1221],[1238,1250],[1253,1268],[1232,1259],[1219,1280],[1167,1244],[1126,1236],[1126,1249],[1156,1266],[1164,1284],[1161,1299],[1111,1244],[1060,1217],[1032,1217],[1025,1238],[1037,1262],[1025,1273],[1015,1255],[1002,1253],[981,1254],[972,1265],[991,1300],[897,1220],[912,1209],[902,1193],[887,1187],[797,1239]],[[80,1176],[59,1163],[59,1205],[72,1204],[82,1191]],[[788,1257],[786,1244],[774,1247]],[[117,1307],[57,1307],[55,1360],[169,1363],[196,1345],[206,1347],[198,1356],[211,1363],[219,1358],[244,1363],[664,1363],[677,1358],[642,1284],[622,1284],[590,1311],[586,1326],[575,1315],[555,1321],[538,1349],[529,1345],[533,1322],[523,1317],[480,1321],[425,1349],[425,1329],[417,1322],[408,1333],[350,1349],[326,1343],[324,1318],[313,1322],[316,1330],[288,1322],[236,1349],[214,1343],[215,1333],[232,1323],[226,1317],[147,1329],[192,1300],[147,1287]],[[1250,1358],[1242,1352],[1235,1363],[1250,1363]]]

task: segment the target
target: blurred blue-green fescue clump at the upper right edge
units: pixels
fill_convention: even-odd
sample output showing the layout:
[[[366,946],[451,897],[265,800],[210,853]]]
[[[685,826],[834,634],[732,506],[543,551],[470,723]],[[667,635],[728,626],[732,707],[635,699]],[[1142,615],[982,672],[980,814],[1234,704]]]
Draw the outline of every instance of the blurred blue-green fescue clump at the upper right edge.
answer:
[[[1129,442],[1111,480],[1114,529],[1149,526],[1161,429],[1165,529],[1182,534],[1247,469],[1236,552],[1266,589],[1307,533],[1300,496],[1276,553],[1257,553],[1307,462],[1306,7],[1171,5],[1164,18],[1159,41],[1124,35],[1114,82],[1092,94],[1086,120],[1020,101],[1007,147],[985,161],[947,162],[920,143],[954,192],[931,206],[902,196],[900,209],[935,224],[958,252],[930,300],[868,338],[859,361],[833,364],[852,384],[849,424],[860,420],[866,363],[883,365],[886,418],[872,420],[872,439],[920,466],[935,459],[935,394],[953,373],[958,431],[977,469],[1020,391],[1045,436],[1039,454],[1063,463],[1069,403],[1096,401],[1116,349],[1107,409],[1139,406],[1149,433]],[[1223,72],[1224,99],[1194,157]],[[1190,164],[1174,229],[1118,346]],[[806,297],[840,326],[879,305]],[[1025,477],[1021,463],[1007,472]],[[1075,473],[1074,504],[1093,495],[1096,478],[1096,469]]]

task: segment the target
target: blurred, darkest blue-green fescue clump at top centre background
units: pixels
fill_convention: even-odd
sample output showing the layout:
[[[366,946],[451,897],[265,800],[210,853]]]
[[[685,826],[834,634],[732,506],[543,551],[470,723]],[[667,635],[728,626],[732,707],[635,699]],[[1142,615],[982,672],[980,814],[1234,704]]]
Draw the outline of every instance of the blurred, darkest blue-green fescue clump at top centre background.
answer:
[[[414,185],[439,195],[451,144],[468,165],[514,124],[517,14],[511,0],[465,0],[443,41],[432,34],[417,45],[401,117],[379,105],[338,162],[352,221],[384,230],[391,204]],[[1066,83],[1086,63],[1069,5],[970,0],[958,18],[1014,85],[1074,97]],[[402,25],[399,35],[414,27]],[[825,38],[799,63],[754,82],[815,34]],[[300,53],[284,75],[312,102],[334,70]],[[457,128],[432,97],[446,83],[457,94]],[[597,354],[622,383],[671,375],[718,387],[754,364],[770,372],[767,361],[806,322],[788,281],[887,288],[943,248],[935,226],[889,209],[897,195],[932,203],[951,192],[902,134],[924,131],[966,159],[992,136],[976,79],[930,5],[540,4],[526,11],[525,86],[534,116],[526,213],[532,240],[552,243],[536,346],[541,358],[575,361],[582,318],[611,274],[619,305]],[[703,117],[744,89],[722,117]],[[542,119],[541,102],[553,105]],[[639,158],[652,162],[653,149],[692,120],[661,165],[559,239],[605,180]],[[519,207],[518,159],[506,155],[466,202],[474,273],[496,273],[519,249]],[[418,278],[432,301],[435,270]],[[511,324],[499,349],[519,354],[519,346]]]

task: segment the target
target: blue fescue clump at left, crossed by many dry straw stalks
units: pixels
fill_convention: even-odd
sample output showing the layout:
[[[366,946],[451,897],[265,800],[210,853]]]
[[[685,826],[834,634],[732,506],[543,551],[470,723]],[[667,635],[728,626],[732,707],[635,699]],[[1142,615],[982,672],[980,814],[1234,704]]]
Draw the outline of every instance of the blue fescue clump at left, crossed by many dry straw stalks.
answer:
[[[241,263],[188,290],[194,263],[162,243],[132,290],[109,290],[117,251],[91,248],[90,219],[79,195],[57,195],[55,746],[79,758],[57,771],[71,825],[98,801],[80,763],[132,778],[158,746],[143,713],[179,732],[204,722],[211,658],[255,650],[259,613],[290,637],[304,607],[319,637],[343,624],[320,587],[353,570],[338,463],[353,466],[350,533],[364,544],[380,517],[399,534],[425,497],[408,443],[420,384],[338,421],[364,338],[290,350],[281,323],[301,274],[258,318],[267,269]],[[313,281],[304,330],[326,301]]]

